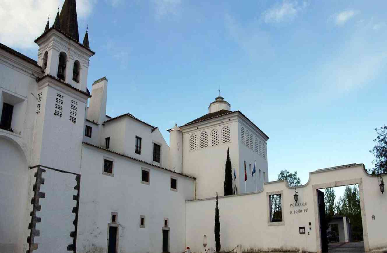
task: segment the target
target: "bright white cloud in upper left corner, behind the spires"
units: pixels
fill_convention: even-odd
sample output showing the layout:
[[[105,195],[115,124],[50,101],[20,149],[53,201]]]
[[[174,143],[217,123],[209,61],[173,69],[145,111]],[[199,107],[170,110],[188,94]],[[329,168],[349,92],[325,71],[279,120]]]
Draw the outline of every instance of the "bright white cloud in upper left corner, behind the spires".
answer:
[[[83,22],[91,11],[95,0],[77,0],[78,22]],[[52,26],[58,5],[63,0],[3,0],[0,4],[0,41],[13,48],[34,48],[36,39],[45,29],[50,14]],[[80,32],[80,37],[82,32]]]

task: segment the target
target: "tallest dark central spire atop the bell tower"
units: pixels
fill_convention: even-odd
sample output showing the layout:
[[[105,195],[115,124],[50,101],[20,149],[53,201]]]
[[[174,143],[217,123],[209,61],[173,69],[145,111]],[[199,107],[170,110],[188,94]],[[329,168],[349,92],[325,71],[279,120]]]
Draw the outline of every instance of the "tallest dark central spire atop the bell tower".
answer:
[[[59,18],[61,30],[79,42],[77,6],[75,0],[65,0]]]

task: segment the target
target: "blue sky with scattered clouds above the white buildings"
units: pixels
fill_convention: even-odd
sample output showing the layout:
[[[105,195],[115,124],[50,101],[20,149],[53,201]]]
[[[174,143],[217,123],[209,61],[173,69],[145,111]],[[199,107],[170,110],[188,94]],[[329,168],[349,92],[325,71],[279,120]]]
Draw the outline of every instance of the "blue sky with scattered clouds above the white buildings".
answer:
[[[0,41],[36,59],[33,39],[63,1],[5,0]],[[28,2],[28,1],[24,1]],[[8,4],[7,4],[8,3]],[[269,180],[348,163],[372,167],[387,123],[387,2],[77,0],[89,24],[88,87],[106,75],[107,114],[165,130],[218,95],[269,137]],[[26,17],[23,13],[28,13]],[[51,20],[52,24],[52,20]],[[27,34],[27,35],[26,35]]]

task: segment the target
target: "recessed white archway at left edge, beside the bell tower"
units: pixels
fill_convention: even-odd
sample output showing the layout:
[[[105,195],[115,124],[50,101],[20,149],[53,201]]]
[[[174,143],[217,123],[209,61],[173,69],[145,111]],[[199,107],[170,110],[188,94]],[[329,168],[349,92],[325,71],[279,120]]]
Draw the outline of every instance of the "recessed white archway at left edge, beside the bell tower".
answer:
[[[0,135],[0,248],[22,252],[26,244],[28,164],[19,144]]]

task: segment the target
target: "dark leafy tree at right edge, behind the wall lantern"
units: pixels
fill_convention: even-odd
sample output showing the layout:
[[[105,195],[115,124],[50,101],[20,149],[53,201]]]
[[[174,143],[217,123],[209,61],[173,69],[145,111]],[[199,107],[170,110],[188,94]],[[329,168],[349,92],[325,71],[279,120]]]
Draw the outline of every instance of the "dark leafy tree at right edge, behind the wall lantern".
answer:
[[[375,128],[377,137],[373,140],[376,142],[375,147],[370,152],[375,156],[373,160],[374,167],[369,170],[371,174],[387,173],[387,126]]]

